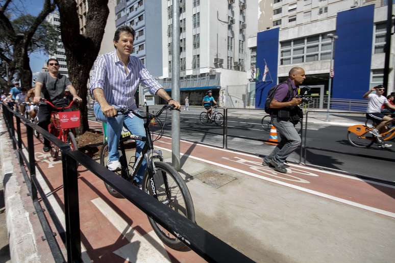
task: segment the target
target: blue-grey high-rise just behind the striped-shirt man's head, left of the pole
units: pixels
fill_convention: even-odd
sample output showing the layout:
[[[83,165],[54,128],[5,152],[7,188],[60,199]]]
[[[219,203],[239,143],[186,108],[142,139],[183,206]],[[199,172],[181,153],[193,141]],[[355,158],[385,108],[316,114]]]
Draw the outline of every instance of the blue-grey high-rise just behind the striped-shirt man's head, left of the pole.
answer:
[[[136,31],[132,56],[138,57],[153,76],[162,75],[161,1],[117,0],[115,27],[129,25]]]

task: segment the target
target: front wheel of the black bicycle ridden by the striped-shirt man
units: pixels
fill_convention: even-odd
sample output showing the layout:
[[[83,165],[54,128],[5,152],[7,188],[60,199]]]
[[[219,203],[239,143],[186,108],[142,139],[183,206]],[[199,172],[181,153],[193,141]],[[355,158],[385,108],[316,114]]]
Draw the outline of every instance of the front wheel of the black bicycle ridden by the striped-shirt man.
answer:
[[[155,162],[157,169],[153,175],[158,201],[167,205],[177,213],[195,222],[195,212],[192,197],[180,174],[170,165]],[[142,189],[145,193],[153,195],[150,176],[146,172],[143,178]],[[167,231],[152,218],[148,218],[155,233],[168,247],[184,250],[186,246],[175,235]]]

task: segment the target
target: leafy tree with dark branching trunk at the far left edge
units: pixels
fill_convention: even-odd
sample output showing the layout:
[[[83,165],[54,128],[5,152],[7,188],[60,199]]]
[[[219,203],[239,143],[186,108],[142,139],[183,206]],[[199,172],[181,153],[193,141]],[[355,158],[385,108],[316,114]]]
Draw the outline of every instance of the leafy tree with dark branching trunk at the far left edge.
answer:
[[[34,51],[53,52],[58,44],[56,29],[45,21],[56,5],[51,0],[44,0],[38,16],[22,14],[12,20],[12,11],[9,10],[11,2],[12,0],[2,1],[4,4],[0,6],[0,60],[7,63],[11,73],[8,86],[16,74],[21,80],[22,87],[30,87],[32,70],[29,55]],[[0,77],[6,74],[3,67],[0,69]],[[3,83],[4,81],[3,78]]]

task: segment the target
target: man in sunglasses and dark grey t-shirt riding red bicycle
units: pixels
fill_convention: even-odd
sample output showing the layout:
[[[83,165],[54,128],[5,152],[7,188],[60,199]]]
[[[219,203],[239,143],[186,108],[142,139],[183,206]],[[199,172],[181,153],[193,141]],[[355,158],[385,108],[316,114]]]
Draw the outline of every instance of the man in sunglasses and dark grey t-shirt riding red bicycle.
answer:
[[[38,103],[41,98],[51,101],[56,107],[67,106],[67,101],[64,99],[64,92],[66,88],[70,91],[73,99],[82,101],[77,95],[76,89],[71,85],[68,77],[59,74],[59,62],[57,59],[51,58],[46,62],[48,72],[41,72],[36,79],[36,86],[34,90],[33,102]],[[50,105],[43,105],[38,107],[38,125],[48,130],[48,124],[51,121],[51,112],[53,108]],[[50,141],[44,139],[44,152],[50,151]]]

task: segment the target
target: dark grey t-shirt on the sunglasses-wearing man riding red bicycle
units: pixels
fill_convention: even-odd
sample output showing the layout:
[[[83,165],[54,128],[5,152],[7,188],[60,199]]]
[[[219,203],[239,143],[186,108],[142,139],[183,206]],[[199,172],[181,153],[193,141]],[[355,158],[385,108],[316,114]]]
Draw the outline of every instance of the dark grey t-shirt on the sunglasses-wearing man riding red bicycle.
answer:
[[[42,83],[41,97],[52,101],[52,103],[64,103],[64,90],[71,82],[65,75],[58,74],[53,78],[48,72],[38,74],[36,82]]]

